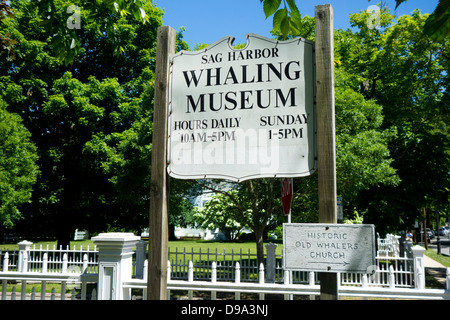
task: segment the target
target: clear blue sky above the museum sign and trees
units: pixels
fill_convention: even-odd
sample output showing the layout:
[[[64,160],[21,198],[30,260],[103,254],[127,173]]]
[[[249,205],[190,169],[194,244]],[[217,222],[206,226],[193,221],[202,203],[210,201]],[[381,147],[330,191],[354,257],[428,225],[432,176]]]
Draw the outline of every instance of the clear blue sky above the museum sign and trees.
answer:
[[[432,13],[439,0],[408,0],[395,11],[395,0],[385,0],[392,13],[410,14],[419,8]],[[235,43],[246,43],[245,34],[271,37],[272,17],[265,19],[259,0],[154,0],[165,10],[163,23],[175,30],[186,28],[184,40],[194,48],[197,43],[211,44],[222,37],[233,36]],[[349,15],[376,5],[377,0],[297,0],[302,15],[314,16],[314,7],[330,3],[335,28],[350,28]]]

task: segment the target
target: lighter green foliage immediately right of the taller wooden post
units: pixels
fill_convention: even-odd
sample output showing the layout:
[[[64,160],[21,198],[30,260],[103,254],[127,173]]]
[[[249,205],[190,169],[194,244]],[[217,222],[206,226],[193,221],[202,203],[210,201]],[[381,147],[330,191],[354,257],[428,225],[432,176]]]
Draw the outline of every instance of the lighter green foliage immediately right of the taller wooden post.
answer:
[[[336,161],[338,188],[346,201],[377,185],[397,185],[388,144],[393,129],[382,129],[383,108],[374,100],[342,83],[338,69],[336,87]]]

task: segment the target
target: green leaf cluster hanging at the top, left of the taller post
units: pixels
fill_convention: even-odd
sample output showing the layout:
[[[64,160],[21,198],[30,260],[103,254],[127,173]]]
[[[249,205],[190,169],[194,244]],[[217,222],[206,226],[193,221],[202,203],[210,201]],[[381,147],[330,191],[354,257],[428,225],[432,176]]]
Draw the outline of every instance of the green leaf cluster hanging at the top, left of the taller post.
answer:
[[[291,34],[298,34],[301,23],[301,15],[295,0],[261,0],[266,19],[273,15],[273,33],[281,33],[282,38],[287,39]]]

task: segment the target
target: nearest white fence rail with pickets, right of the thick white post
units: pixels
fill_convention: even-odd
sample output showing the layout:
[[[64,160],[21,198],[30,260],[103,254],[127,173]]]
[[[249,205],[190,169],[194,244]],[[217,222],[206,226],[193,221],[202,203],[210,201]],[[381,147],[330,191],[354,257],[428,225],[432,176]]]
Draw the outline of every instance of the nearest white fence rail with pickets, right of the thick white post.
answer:
[[[241,282],[239,262],[236,262],[235,274],[237,277],[233,282],[217,281],[217,265],[212,263],[210,281],[195,281],[194,266],[189,263],[188,280],[171,279],[170,262],[167,269],[167,299],[171,298],[173,291],[187,292],[187,298],[193,300],[195,292],[210,292],[210,299],[216,300],[218,292],[233,293],[235,300],[241,299],[241,294],[256,294],[260,300],[265,298],[267,294],[283,295],[285,300],[292,299],[294,295],[309,296],[315,299],[320,295],[320,284],[316,283],[316,274],[309,272],[310,282],[307,284],[292,284],[289,280],[289,271],[285,271],[284,283],[265,283],[264,282],[264,266],[261,264],[259,270],[259,281]],[[339,274],[340,276],[340,274]],[[424,289],[424,288],[398,288],[396,287],[395,275],[393,267],[389,270],[388,287],[380,287],[371,283],[372,276],[363,274],[361,276],[362,283],[359,286],[339,285],[339,296],[343,297],[361,297],[361,298],[382,298],[382,299],[433,299],[433,300],[450,300],[450,268],[447,269],[447,289]],[[133,279],[124,282],[124,290],[131,295],[131,290],[139,289],[143,299],[147,297],[147,280]]]

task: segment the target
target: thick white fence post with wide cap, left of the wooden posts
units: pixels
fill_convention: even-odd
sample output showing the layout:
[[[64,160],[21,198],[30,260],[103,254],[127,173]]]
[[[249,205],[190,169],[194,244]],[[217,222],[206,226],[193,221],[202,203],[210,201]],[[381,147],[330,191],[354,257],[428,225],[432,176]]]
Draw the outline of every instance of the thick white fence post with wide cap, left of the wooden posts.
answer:
[[[123,300],[123,282],[131,279],[133,248],[141,237],[132,233],[100,233],[92,240],[98,248],[98,300]]]

